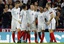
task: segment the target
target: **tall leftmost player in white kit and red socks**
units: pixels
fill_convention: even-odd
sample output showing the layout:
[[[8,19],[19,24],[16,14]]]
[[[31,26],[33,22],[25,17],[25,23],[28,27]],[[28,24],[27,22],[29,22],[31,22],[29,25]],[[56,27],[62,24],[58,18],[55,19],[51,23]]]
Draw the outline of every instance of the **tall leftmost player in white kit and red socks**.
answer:
[[[15,2],[15,7],[11,11],[12,13],[12,23],[11,23],[11,31],[13,42],[15,42],[15,32],[20,29],[20,8],[19,3]]]

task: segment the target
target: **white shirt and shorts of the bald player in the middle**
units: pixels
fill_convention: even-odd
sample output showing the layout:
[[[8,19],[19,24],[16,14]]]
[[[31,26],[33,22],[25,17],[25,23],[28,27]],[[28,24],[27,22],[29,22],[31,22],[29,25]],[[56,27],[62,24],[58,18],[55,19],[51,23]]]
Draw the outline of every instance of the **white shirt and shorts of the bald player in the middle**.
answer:
[[[36,15],[36,11],[30,10],[30,9],[27,11],[27,23],[30,24],[30,26],[28,27],[29,30],[35,30],[36,29],[35,15]]]

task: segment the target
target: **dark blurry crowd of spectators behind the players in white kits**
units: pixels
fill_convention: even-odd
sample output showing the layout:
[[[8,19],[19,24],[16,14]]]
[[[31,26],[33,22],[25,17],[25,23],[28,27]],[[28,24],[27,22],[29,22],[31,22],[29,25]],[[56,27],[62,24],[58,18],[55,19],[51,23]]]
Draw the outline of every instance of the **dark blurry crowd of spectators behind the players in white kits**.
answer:
[[[14,7],[14,2],[20,2],[22,10],[23,3],[27,4],[28,9],[30,4],[45,7],[46,3],[51,3],[51,7],[56,11],[56,27],[64,28],[64,0],[0,0],[0,28],[11,27],[11,10]]]

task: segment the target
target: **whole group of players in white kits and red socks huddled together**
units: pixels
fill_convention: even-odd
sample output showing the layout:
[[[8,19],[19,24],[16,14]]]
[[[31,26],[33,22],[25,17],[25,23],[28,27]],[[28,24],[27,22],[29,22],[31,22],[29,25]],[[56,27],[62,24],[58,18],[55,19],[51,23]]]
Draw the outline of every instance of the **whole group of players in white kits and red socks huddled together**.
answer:
[[[45,33],[44,30],[47,28],[50,33],[50,42],[56,42],[54,36],[55,30],[55,10],[50,7],[50,3],[46,4],[46,7],[39,7],[37,11],[37,6],[31,4],[30,9],[27,10],[27,5],[22,6],[20,11],[19,3],[15,3],[15,7],[11,11],[12,13],[12,22],[11,22],[11,31],[13,42],[15,42],[15,32],[17,31],[18,43],[21,43],[21,38],[23,37],[23,42],[26,40],[30,41],[30,32],[34,32],[35,42],[37,41],[37,34],[40,38],[40,43],[43,42]],[[40,33],[42,32],[42,34]]]

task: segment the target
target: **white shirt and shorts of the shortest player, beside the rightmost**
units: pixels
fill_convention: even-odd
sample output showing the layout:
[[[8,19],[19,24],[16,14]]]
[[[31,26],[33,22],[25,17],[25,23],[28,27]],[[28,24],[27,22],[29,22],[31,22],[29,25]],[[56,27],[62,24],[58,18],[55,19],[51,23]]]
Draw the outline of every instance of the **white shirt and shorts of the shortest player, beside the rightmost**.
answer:
[[[38,32],[45,30],[45,14],[44,12],[38,13]]]

